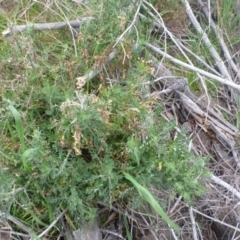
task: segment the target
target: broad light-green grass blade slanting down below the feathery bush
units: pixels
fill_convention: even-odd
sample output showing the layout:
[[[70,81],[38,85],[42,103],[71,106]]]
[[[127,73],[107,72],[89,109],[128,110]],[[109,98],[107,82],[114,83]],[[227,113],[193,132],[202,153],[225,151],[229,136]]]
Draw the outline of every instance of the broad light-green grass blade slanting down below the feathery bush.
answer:
[[[125,178],[128,179],[132,184],[136,187],[139,194],[143,199],[145,199],[154,209],[155,211],[163,218],[163,220],[174,230],[176,230],[178,233],[180,232],[180,228],[171,221],[171,219],[168,217],[168,215],[164,212],[162,207],[159,205],[159,203],[155,200],[153,195],[142,185],[140,185],[130,174],[123,173]]]

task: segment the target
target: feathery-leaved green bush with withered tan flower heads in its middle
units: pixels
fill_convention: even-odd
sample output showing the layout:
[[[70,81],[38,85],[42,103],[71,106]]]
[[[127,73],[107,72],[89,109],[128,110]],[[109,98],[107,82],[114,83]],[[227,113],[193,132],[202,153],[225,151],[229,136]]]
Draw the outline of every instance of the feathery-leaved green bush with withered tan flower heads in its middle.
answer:
[[[204,160],[188,152],[185,136],[171,140],[174,125],[159,117],[160,108],[146,108],[136,93],[137,88],[128,85],[125,91],[115,85],[99,97],[79,91],[77,97],[61,103],[60,117],[57,113],[58,120],[45,131],[34,123],[35,128],[28,129],[32,133],[26,135],[26,150],[19,149],[13,156],[15,164],[12,159],[4,161],[9,167],[6,174],[17,175],[15,187],[26,189],[14,199],[31,201],[31,213],[36,206],[51,212],[56,206],[67,208],[81,223],[93,216],[97,202],[133,201],[136,192],[123,171],[146,187],[160,181],[186,200],[202,194],[199,180],[204,176]],[[53,118],[55,112],[49,115]],[[11,122],[12,131],[14,125]],[[45,214],[42,221],[48,217]]]

